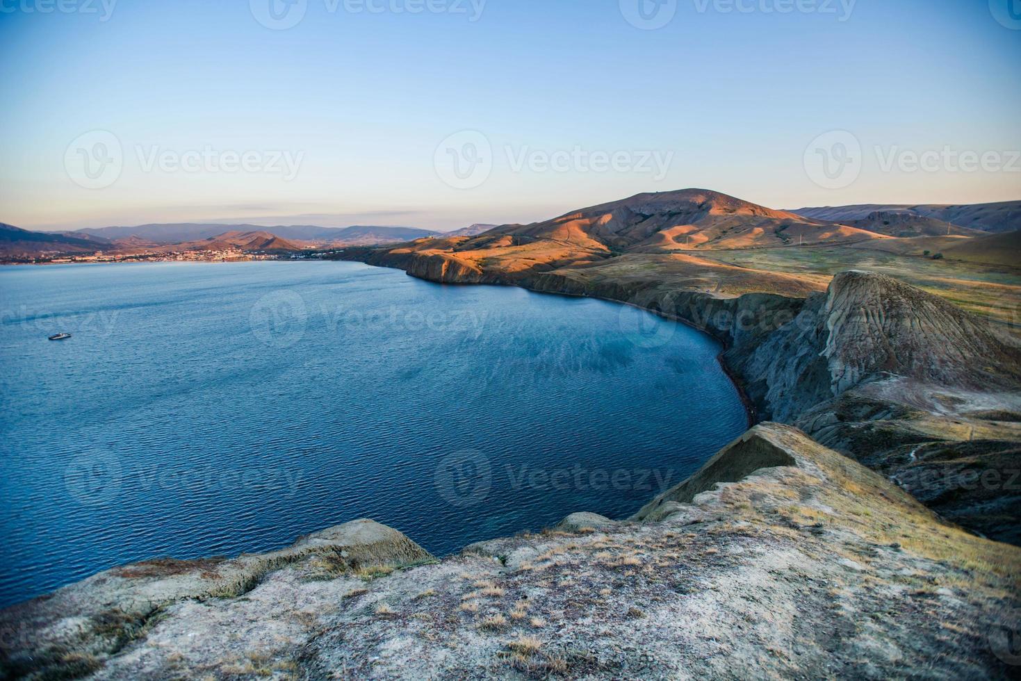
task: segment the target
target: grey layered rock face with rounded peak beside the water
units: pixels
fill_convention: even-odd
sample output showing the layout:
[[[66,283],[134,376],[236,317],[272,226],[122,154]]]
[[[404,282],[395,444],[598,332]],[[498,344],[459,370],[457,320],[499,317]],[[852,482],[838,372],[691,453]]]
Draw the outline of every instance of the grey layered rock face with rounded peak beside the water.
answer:
[[[942,298],[869,272],[833,278],[799,314],[745,359],[739,373],[767,416],[793,421],[821,402],[883,375],[955,389],[1021,385],[1021,350],[988,323]]]

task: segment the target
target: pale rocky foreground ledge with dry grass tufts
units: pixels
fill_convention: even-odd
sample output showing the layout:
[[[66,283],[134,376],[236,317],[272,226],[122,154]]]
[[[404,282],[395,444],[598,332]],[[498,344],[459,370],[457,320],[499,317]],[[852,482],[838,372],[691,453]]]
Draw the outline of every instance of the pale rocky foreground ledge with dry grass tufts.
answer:
[[[1021,549],[762,424],[635,518],[442,562],[369,520],[0,614],[8,677],[1010,678]]]

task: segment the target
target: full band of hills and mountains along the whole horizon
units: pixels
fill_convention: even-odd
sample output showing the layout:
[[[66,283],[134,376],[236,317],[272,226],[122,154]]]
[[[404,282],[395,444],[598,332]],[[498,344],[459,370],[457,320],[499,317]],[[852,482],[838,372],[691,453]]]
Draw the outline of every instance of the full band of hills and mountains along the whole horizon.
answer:
[[[473,247],[520,246],[545,240],[594,250],[664,253],[866,242],[890,237],[978,237],[1016,230],[1021,230],[1021,201],[975,205],[860,204],[774,210],[719,192],[686,189],[637,194],[531,225],[476,224],[446,233],[410,227],[260,227],[217,223],[31,232],[0,224],[0,256],[36,258],[97,250],[126,254],[224,249],[286,252],[403,243],[424,238],[468,238]],[[962,252],[965,250],[962,247]]]

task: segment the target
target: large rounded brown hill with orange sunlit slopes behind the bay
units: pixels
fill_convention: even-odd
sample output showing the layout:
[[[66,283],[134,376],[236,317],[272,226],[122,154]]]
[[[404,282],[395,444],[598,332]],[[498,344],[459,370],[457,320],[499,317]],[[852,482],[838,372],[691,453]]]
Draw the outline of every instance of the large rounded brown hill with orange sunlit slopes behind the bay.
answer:
[[[525,240],[646,253],[883,238],[704,189],[637,194],[543,223],[497,230]]]

